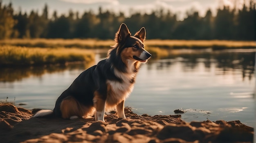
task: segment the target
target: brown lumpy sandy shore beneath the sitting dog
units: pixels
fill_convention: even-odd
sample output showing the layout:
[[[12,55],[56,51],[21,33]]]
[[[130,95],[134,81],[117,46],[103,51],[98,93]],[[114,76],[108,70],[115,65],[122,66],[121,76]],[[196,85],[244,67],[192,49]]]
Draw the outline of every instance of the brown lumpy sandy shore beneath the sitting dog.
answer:
[[[137,115],[125,109],[106,122],[90,119],[31,118],[31,111],[0,106],[1,143],[252,143],[254,128],[240,121],[184,122],[180,115]]]

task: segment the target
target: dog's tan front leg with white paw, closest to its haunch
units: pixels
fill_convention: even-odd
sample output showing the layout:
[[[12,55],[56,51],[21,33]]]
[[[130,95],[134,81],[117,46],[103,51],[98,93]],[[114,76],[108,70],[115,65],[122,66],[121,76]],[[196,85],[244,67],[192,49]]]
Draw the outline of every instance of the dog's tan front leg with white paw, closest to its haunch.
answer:
[[[95,111],[95,121],[104,121],[104,115],[105,115],[105,106],[106,106],[106,100],[103,100],[100,98],[99,94],[94,93],[94,107],[96,108]],[[105,122],[105,121],[104,121]]]

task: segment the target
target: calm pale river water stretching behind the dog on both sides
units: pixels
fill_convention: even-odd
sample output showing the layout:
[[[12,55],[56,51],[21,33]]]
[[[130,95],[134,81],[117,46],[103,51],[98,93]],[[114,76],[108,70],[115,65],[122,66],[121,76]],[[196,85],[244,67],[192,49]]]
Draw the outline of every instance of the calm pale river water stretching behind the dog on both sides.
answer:
[[[24,108],[53,109],[58,96],[90,64],[0,68],[0,99]],[[255,49],[170,50],[164,59],[150,59],[137,75],[125,106],[141,115],[174,115],[184,121],[240,120],[255,124]]]

